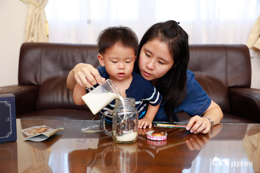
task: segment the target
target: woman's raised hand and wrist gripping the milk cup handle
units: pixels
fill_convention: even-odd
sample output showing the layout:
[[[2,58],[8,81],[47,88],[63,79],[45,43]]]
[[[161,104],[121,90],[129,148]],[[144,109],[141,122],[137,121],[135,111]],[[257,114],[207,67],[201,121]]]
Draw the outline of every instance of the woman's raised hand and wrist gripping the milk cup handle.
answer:
[[[97,83],[101,84],[102,80],[105,81],[92,65],[79,63],[70,71],[67,78],[67,87],[73,90],[76,83],[78,83],[80,86],[91,88]]]

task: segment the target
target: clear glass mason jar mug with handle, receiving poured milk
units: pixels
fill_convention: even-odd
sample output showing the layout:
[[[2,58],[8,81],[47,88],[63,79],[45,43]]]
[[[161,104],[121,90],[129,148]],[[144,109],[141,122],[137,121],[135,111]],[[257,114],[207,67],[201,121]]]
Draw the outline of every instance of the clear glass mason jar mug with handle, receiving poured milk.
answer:
[[[112,132],[105,129],[105,116],[112,114]],[[105,111],[102,116],[103,131],[112,135],[113,140],[119,143],[131,143],[137,140],[138,111],[135,108],[134,98],[116,99],[115,108]]]

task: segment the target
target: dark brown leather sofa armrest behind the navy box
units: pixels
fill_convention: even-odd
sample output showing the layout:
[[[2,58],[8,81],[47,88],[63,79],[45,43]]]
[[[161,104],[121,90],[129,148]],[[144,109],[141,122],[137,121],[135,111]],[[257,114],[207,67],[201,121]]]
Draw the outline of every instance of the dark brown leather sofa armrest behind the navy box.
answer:
[[[0,86],[0,94],[15,96],[16,115],[35,111],[36,98],[39,87],[36,85]]]

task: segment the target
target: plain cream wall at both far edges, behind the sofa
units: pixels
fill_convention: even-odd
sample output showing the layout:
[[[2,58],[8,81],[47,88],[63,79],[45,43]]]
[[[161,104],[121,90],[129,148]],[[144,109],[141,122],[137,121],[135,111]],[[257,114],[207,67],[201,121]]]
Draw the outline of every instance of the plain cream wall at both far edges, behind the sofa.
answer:
[[[0,0],[0,86],[18,84],[19,52],[23,43],[27,4]],[[260,58],[252,60],[252,88],[260,89]]]

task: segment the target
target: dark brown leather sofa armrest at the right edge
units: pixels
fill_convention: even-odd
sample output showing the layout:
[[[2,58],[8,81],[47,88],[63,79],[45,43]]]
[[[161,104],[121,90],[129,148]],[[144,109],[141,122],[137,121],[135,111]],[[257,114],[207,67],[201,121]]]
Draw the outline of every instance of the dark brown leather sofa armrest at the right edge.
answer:
[[[231,113],[260,123],[260,89],[228,88]]]

